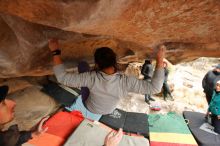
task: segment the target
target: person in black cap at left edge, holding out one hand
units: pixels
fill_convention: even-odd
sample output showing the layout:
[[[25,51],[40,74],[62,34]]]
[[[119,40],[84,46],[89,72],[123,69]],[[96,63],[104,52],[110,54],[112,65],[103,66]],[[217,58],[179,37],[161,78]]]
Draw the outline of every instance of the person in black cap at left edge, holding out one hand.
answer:
[[[5,99],[8,93],[8,86],[0,86],[0,145],[1,146],[21,146],[31,138],[39,136],[47,131],[42,125],[49,117],[42,119],[39,127],[35,131],[19,131],[17,125],[12,125],[6,131],[2,131],[4,124],[14,118],[14,108],[16,103],[10,99]]]

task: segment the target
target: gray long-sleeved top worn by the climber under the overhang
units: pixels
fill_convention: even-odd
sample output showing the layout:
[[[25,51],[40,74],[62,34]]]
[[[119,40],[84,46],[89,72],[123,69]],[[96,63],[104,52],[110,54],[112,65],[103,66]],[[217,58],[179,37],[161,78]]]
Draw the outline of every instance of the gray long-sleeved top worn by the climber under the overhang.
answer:
[[[120,98],[128,92],[155,94],[161,91],[164,69],[156,69],[152,81],[139,80],[124,74],[107,75],[104,72],[68,73],[63,64],[54,66],[55,76],[61,84],[70,87],[88,87],[90,96],[86,100],[89,111],[109,114],[116,108]]]

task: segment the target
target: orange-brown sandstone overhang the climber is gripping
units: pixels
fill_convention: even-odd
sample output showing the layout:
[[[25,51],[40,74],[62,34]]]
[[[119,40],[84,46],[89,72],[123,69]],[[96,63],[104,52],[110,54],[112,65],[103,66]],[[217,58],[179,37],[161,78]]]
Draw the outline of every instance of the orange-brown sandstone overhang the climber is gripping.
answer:
[[[0,0],[0,78],[51,74],[47,39],[70,65],[112,47],[121,62],[163,42],[172,63],[220,56],[219,0]]]

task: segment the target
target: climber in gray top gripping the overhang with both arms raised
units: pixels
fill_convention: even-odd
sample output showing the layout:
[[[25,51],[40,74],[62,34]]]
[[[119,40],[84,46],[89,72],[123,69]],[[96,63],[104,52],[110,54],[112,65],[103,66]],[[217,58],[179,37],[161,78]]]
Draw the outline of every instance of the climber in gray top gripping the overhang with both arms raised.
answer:
[[[85,101],[85,108],[100,117],[102,114],[113,112],[120,98],[126,97],[128,92],[154,94],[161,91],[164,80],[163,59],[166,50],[163,45],[158,47],[156,69],[151,82],[127,77],[117,72],[116,54],[108,47],[96,49],[94,54],[96,71],[80,74],[65,71],[58,40],[49,40],[49,48],[53,55],[54,73],[58,82],[71,87],[88,87],[90,95]],[[76,109],[79,106],[82,108],[82,99],[78,98],[75,104]],[[83,113],[83,115],[86,114]]]

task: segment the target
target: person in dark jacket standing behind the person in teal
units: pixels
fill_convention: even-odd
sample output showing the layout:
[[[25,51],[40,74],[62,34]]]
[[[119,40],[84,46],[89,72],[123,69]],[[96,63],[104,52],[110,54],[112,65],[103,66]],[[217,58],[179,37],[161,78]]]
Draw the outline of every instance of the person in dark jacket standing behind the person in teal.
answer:
[[[220,64],[218,64],[213,70],[206,73],[202,80],[202,87],[204,89],[208,104],[212,99],[212,94],[215,86],[214,81],[217,79],[220,79]]]

